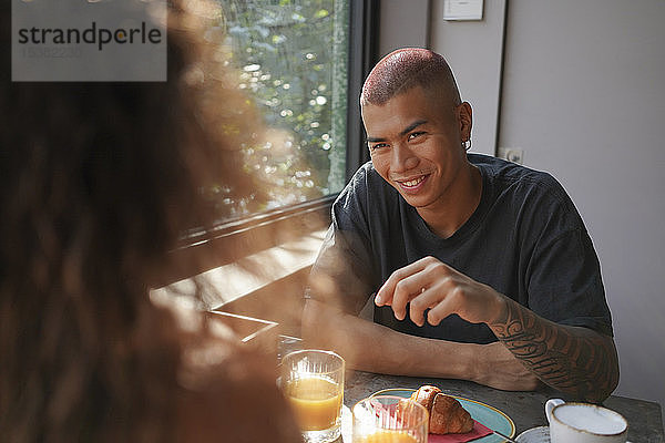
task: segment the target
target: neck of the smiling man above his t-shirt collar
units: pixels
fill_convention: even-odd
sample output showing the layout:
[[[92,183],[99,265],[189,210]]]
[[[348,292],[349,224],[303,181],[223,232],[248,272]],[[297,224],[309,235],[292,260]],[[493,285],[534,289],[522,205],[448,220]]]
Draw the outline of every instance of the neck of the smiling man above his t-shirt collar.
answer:
[[[470,163],[468,166],[434,204],[417,208],[428,227],[441,238],[451,237],[480,204],[482,176],[478,167]]]

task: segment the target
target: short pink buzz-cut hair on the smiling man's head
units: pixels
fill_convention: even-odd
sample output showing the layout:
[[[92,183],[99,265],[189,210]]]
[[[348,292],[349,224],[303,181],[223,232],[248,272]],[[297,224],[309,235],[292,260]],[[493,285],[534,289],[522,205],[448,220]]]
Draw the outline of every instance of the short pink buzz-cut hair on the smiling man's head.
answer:
[[[382,105],[416,86],[442,93],[456,106],[461,103],[454,76],[443,56],[428,49],[403,48],[382,58],[371,70],[362,85],[360,105]]]

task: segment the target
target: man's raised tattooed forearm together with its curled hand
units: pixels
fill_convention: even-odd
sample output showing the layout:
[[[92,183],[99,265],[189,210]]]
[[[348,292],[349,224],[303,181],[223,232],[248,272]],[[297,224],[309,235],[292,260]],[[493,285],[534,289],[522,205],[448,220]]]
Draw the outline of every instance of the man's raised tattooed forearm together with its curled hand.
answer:
[[[410,302],[409,312],[407,303]],[[602,401],[618,383],[612,338],[554,323],[433,257],[396,270],[379,289],[377,305],[398,319],[438,324],[451,313],[487,323],[497,338],[544,383],[587,401]]]

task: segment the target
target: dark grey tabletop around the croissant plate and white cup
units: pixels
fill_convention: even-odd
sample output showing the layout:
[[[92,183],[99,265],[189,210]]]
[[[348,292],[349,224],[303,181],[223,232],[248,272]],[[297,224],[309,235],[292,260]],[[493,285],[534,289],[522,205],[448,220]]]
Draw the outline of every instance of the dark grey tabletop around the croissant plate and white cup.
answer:
[[[467,399],[478,400],[508,414],[515,423],[516,433],[548,424],[544,404],[550,398],[561,396],[556,391],[544,389],[534,392],[509,392],[483,387],[470,381],[428,379],[418,377],[385,375],[371,372],[349,371],[345,381],[344,403],[352,408],[356,402],[376,391],[388,388],[418,389],[422,384],[433,384],[443,392]],[[664,443],[661,405],[645,400],[612,395],[603,405],[628,421],[628,440],[633,443]],[[347,410],[347,414],[349,411]],[[345,420],[344,436],[339,442],[350,443],[350,421]]]

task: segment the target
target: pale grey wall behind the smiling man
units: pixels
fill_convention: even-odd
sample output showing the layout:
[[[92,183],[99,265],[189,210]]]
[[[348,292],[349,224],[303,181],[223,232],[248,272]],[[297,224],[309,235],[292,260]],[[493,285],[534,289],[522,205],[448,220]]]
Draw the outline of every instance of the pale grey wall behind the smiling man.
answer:
[[[427,43],[473,105],[472,151],[493,154],[499,136],[573,197],[613,313],[615,394],[665,405],[665,2],[511,0],[504,17],[505,7],[485,0],[482,21],[447,22],[432,0]],[[420,38],[422,27],[397,25],[403,2],[381,8],[389,47]]]

